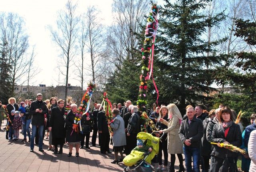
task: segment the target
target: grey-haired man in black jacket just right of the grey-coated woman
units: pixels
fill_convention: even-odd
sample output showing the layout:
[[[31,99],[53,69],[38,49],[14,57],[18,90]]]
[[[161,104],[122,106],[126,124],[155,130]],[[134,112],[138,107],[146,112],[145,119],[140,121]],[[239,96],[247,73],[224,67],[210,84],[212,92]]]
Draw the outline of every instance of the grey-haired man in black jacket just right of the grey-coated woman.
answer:
[[[137,146],[137,134],[141,131],[140,127],[140,116],[138,114],[138,107],[133,106],[131,108],[131,117],[127,126],[127,140],[129,140],[129,145],[125,146],[125,154],[131,153],[131,150]]]

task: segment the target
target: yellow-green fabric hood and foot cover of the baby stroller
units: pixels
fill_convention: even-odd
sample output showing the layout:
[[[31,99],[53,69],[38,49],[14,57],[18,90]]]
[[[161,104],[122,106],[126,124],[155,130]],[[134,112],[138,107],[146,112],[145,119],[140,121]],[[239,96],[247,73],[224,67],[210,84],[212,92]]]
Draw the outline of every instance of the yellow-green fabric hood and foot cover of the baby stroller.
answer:
[[[152,152],[145,159],[146,162],[151,164],[151,160],[155,157],[156,154],[158,154],[158,151],[159,151],[159,138],[152,136],[147,132],[139,132],[137,134],[137,139],[141,139],[143,140],[143,142],[147,140],[146,145],[153,147]],[[126,166],[133,166],[143,158],[144,158],[144,152],[132,150],[131,154],[125,156],[125,158],[123,159],[123,162]]]

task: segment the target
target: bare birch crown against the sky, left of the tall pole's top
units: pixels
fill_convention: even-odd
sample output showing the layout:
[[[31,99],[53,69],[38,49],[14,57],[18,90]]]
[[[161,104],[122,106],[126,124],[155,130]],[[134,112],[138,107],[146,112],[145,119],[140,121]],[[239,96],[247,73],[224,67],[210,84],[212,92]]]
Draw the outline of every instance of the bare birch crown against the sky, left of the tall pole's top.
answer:
[[[138,48],[135,33],[141,32],[144,16],[149,12],[147,0],[114,0],[112,4],[113,25],[109,29],[109,48],[113,51],[111,62],[120,68],[124,59],[134,59]]]

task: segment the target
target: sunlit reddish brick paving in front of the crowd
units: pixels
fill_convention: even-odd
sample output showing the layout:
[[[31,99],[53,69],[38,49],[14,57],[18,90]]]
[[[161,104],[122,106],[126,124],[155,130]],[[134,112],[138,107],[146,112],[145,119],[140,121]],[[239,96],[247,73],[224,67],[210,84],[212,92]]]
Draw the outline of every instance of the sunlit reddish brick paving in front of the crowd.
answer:
[[[4,122],[6,123],[6,121]],[[6,131],[3,130],[5,123],[2,124],[2,130],[0,130],[0,171],[122,172],[125,167],[123,163],[111,164],[114,154],[101,154],[98,144],[96,147],[91,147],[90,150],[80,149],[80,157],[75,157],[75,148],[73,148],[72,156],[67,157],[69,152],[67,144],[64,145],[63,154],[53,154],[52,151],[47,151],[48,139],[44,139],[44,152],[38,151],[37,145],[35,145],[34,152],[30,152],[30,144],[21,142],[23,139],[22,134],[20,134],[18,141],[6,140]],[[112,145],[110,145],[110,148],[112,148]],[[169,155],[169,163],[170,159]],[[176,170],[179,169],[178,165],[178,158],[176,158]],[[157,165],[155,166],[157,167]]]

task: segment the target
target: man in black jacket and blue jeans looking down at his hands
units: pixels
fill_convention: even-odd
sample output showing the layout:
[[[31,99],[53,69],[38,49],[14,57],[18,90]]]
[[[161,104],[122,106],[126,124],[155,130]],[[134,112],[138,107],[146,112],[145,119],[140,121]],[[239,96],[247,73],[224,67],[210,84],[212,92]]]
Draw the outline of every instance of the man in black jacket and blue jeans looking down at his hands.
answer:
[[[32,115],[32,136],[30,142],[30,152],[34,152],[34,142],[36,136],[36,128],[38,127],[39,132],[39,151],[44,152],[43,146],[43,131],[44,131],[44,114],[47,113],[46,103],[42,101],[43,95],[38,93],[36,95],[36,101],[31,103],[29,110],[30,115]]]

